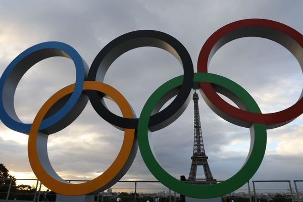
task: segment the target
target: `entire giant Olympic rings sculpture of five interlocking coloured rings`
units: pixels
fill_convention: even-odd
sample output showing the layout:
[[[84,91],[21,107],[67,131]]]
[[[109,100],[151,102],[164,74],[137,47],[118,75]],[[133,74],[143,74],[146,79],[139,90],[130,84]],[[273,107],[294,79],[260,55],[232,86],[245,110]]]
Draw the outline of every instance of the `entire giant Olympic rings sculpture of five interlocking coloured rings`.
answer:
[[[44,42],[22,52],[2,74],[0,119],[12,130],[29,135],[28,156],[32,170],[41,183],[57,193],[73,196],[108,189],[127,172],[139,146],[149,171],[168,188],[196,198],[222,196],[240,188],[258,170],[266,150],[266,129],[287,124],[300,116],[303,109],[302,92],[293,106],[280,112],[262,114],[254,98],[241,86],[225,77],[208,73],[208,64],[221,46],[247,36],[267,38],[283,45],[303,68],[303,36],[287,25],[265,19],[240,20],[217,30],[201,48],[197,73],[193,71],[186,48],[174,37],[159,31],[138,30],[117,37],[98,53],[90,68],[68,44]],[[140,117],[136,118],[124,96],[115,88],[103,83],[103,80],[107,70],[119,56],[142,46],[159,47],[171,53],[182,65],[184,74],[167,81],[151,94]],[[41,107],[32,124],[22,123],[13,105],[18,82],[34,64],[54,56],[66,57],[74,62],[75,83],[51,96]],[[148,131],[157,131],[168,126],[184,112],[190,100],[190,92],[194,86],[197,88],[194,85],[197,82],[208,106],[223,119],[250,128],[251,136],[249,154],[241,169],[224,182],[204,186],[179,181],[167,173],[158,163],[148,140]],[[225,102],[217,92],[233,100],[239,108]],[[160,111],[161,107],[175,95],[177,96],[173,102]],[[107,109],[103,102],[104,97],[111,98],[117,103],[123,117]],[[63,180],[49,162],[47,137],[71,124],[83,111],[88,99],[99,116],[124,131],[124,139],[114,163],[102,175],[82,184],[71,184]]]

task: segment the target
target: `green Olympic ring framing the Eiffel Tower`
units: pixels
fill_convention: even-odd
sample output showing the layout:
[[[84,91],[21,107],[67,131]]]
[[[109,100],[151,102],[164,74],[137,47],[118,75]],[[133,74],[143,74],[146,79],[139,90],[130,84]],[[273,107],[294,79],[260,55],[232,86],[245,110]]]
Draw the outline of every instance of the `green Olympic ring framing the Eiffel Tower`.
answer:
[[[174,178],[161,167],[153,154],[148,141],[148,122],[150,114],[154,110],[160,98],[172,89],[180,86],[182,84],[182,80],[183,75],[175,77],[164,83],[153,94],[151,94],[142,109],[138,123],[137,135],[140,153],[145,165],[163,185],[189,197],[215,198],[231,193],[243,186],[257,172],[261,165],[266,149],[266,126],[263,124],[252,124],[255,132],[250,133],[250,141],[253,142],[253,145],[250,145],[249,154],[245,164],[231,178],[212,185],[194,185]],[[210,73],[195,73],[194,82],[210,82],[220,85],[236,95],[242,101],[247,111],[261,113],[260,108],[249,93],[241,86],[225,77]]]

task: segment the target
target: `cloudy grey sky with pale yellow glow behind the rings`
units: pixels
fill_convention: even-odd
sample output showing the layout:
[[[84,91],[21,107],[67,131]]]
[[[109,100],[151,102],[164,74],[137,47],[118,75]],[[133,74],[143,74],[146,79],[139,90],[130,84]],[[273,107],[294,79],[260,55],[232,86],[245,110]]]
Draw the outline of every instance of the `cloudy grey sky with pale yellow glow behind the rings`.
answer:
[[[0,73],[26,48],[44,41],[70,44],[90,66],[111,40],[141,29],[163,31],[178,39],[187,48],[196,71],[200,48],[220,27],[241,19],[265,18],[303,33],[301,8],[301,1],[4,1],[0,3]],[[224,45],[213,57],[209,71],[244,87],[263,113],[293,105],[303,85],[295,58],[281,45],[262,38],[242,38]],[[110,67],[105,83],[118,89],[139,116],[149,95],[182,72],[168,52],[141,47],[119,57]],[[74,79],[75,70],[69,59],[49,58],[34,65],[17,87],[17,115],[31,123],[46,99]],[[111,101],[107,103],[119,114]],[[218,117],[201,96],[199,108],[213,176],[228,179],[247,157],[249,131]],[[266,156],[253,180],[303,178],[302,123],[301,116],[286,126],[268,130]],[[75,122],[49,137],[48,155],[61,177],[91,179],[111,165],[122,138],[123,132],[100,118],[88,103]],[[27,135],[0,123],[0,163],[17,178],[35,178],[28,162],[27,139]],[[159,162],[171,175],[188,177],[193,103],[177,121],[153,133],[153,145]],[[203,170],[198,172],[203,177]],[[155,180],[139,151],[122,179]]]

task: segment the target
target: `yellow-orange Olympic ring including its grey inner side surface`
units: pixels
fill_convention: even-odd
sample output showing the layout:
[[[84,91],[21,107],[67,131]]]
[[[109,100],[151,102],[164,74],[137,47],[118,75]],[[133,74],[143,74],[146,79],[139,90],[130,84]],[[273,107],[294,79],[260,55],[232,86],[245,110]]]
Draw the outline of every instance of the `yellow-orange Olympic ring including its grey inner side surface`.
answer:
[[[39,132],[40,124],[48,112],[61,98],[73,92],[75,84],[66,86],[49,98],[37,113],[28,137],[28,158],[36,177],[47,188],[63,195],[98,193],[113,186],[128,171],[137,153],[134,129],[125,129],[121,150],[113,164],[100,176],[81,184],[63,180],[53,169],[47,155],[48,135]],[[85,81],[83,90],[97,90],[106,94],[120,108],[123,117],[133,118],[133,112],[123,95],[115,88],[96,81]]]

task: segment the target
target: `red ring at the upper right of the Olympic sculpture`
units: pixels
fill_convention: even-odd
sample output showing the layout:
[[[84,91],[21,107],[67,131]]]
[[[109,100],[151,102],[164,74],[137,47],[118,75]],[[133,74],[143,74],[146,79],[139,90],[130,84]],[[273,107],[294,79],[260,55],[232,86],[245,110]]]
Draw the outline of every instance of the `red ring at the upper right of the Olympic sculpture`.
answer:
[[[280,35],[281,37],[277,35]],[[301,57],[301,60],[299,63],[302,68],[303,50],[298,52],[299,48],[303,48],[302,34],[287,25],[272,20],[245,19],[225,25],[208,38],[201,48],[198,57],[197,72],[208,72],[208,64],[212,56],[226,43],[226,41],[229,42],[245,36],[259,36],[280,43],[292,52],[295,57],[300,55],[299,57]],[[221,41],[219,41],[220,39]],[[219,47],[216,46],[218,41]],[[289,45],[289,42],[292,42],[292,45],[296,45],[296,52],[294,51],[293,46]],[[222,118],[227,121],[243,127],[249,127],[252,123],[259,123],[267,125],[268,129],[276,128],[289,123],[302,114],[303,99],[301,97],[294,105],[285,110],[269,114],[257,114],[231,106],[216,93],[214,86],[210,83],[200,82],[199,85],[203,90],[204,98],[207,103],[218,115],[222,116]]]

